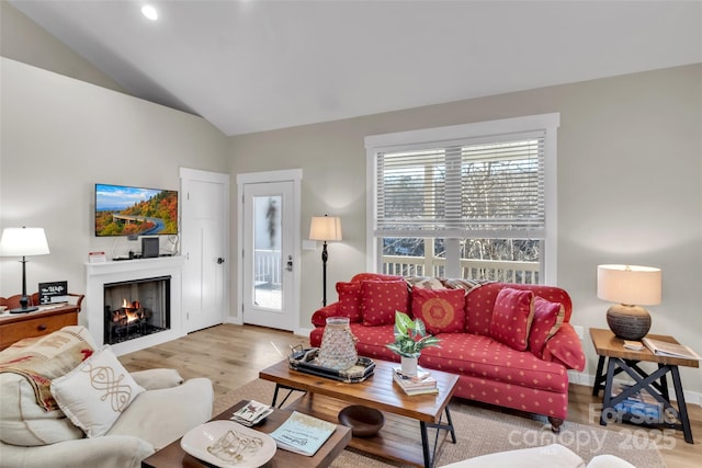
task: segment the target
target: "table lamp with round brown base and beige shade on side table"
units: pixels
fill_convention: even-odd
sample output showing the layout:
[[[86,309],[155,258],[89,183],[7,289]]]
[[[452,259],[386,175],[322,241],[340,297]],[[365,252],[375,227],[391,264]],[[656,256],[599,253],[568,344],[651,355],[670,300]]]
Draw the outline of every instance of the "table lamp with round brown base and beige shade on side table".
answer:
[[[641,340],[650,330],[650,315],[641,306],[661,299],[659,269],[636,265],[599,265],[597,297],[618,303],[607,311],[607,323],[624,340]]]

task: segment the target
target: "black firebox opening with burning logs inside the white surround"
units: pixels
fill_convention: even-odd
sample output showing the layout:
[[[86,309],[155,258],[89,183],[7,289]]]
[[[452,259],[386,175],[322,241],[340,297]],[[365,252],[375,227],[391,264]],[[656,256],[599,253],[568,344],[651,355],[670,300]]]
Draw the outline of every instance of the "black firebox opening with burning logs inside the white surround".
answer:
[[[171,277],[104,285],[104,343],[116,344],[170,329]]]

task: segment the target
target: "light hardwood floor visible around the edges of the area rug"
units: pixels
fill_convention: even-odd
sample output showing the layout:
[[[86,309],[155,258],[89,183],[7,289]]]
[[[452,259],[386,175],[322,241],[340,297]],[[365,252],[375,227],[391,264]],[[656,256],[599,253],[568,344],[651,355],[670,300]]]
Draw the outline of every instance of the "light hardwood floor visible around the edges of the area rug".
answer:
[[[307,346],[309,342],[306,338],[295,336],[291,332],[251,326],[223,324],[126,354],[121,356],[120,361],[131,372],[170,367],[178,369],[186,379],[208,377],[217,399],[227,391],[258,378],[259,369],[284,358],[290,354],[290,346],[297,344]],[[592,397],[591,393],[590,387],[570,385],[568,421],[599,426],[599,413],[596,408],[602,399]],[[501,410],[496,409],[496,411]],[[695,443],[686,443],[680,431],[666,432],[660,444],[669,448],[663,448],[660,453],[668,468],[702,466],[702,408],[688,404],[688,412]],[[567,421],[565,424],[567,426]],[[625,430],[630,434],[648,434],[654,438],[660,438],[663,435],[660,432],[633,425],[610,424],[608,427]]]

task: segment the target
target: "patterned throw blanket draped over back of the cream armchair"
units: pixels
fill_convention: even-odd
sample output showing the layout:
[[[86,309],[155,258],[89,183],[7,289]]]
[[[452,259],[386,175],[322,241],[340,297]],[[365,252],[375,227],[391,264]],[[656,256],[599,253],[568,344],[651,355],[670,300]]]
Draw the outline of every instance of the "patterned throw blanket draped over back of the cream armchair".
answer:
[[[93,353],[88,330],[67,327],[39,338],[18,341],[0,352],[0,373],[27,379],[36,403],[45,411],[58,409],[52,396],[52,380],[72,370]]]

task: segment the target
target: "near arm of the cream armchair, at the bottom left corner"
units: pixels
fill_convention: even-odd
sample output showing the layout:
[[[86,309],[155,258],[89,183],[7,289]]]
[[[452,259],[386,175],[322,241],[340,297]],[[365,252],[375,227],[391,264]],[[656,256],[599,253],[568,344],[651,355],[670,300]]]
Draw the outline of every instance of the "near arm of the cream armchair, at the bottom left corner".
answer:
[[[131,435],[78,438],[35,447],[0,442],[0,468],[138,468],[154,452],[150,444]]]

